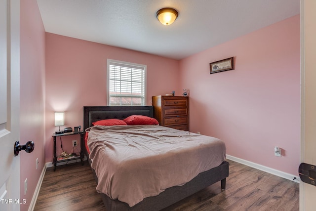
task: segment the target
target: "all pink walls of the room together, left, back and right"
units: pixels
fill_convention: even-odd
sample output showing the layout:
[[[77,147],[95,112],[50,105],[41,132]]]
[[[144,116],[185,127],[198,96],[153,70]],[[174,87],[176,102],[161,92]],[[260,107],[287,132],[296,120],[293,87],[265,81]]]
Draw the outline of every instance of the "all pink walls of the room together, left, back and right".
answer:
[[[19,155],[21,199],[27,200],[21,210],[28,210],[44,162],[52,161],[54,111],[65,111],[64,127],[74,127],[82,125],[82,106],[106,105],[107,58],[147,65],[147,105],[153,95],[172,90],[180,95],[182,88],[190,88],[191,131],[223,139],[229,155],[297,174],[299,28],[299,16],[294,16],[176,61],[45,34],[36,0],[21,1],[20,136],[22,143],[36,144],[33,153]],[[210,62],[231,56],[235,70],[209,74]],[[71,141],[63,140],[71,151]],[[273,155],[274,146],[283,149],[281,158]]]

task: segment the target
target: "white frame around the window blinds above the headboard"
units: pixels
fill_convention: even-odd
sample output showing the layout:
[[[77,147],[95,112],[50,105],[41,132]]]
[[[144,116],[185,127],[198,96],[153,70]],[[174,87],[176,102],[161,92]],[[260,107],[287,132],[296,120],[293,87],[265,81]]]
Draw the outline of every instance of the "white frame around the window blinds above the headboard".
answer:
[[[137,63],[131,63],[131,62],[125,62],[125,61],[119,61],[119,60],[114,60],[114,59],[107,59],[107,106],[110,105],[110,65],[113,65],[113,63],[121,65],[121,66],[131,66],[132,68],[139,68],[139,69],[144,69],[144,105],[145,106],[147,103],[147,65],[144,64],[137,64]],[[133,106],[132,104],[130,105],[123,105],[123,106]]]

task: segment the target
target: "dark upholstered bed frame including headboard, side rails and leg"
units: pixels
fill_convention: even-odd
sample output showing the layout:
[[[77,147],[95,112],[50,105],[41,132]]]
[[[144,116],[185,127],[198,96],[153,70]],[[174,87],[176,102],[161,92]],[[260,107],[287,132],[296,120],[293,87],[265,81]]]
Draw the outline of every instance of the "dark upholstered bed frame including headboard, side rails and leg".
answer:
[[[92,123],[98,120],[123,120],[130,115],[153,117],[153,106],[84,106],[83,128],[86,129],[91,127]],[[87,160],[91,165],[91,160],[89,159],[86,149],[84,149],[84,151],[87,156]],[[101,194],[101,196],[107,211],[159,211],[218,181],[221,181],[221,188],[225,190],[226,177],[228,177],[229,174],[228,168],[228,162],[224,161],[216,168],[199,173],[185,185],[167,188],[158,196],[147,197],[133,207],[129,207],[127,203],[112,200],[105,194]],[[98,178],[93,169],[92,172],[96,183],[98,184]]]

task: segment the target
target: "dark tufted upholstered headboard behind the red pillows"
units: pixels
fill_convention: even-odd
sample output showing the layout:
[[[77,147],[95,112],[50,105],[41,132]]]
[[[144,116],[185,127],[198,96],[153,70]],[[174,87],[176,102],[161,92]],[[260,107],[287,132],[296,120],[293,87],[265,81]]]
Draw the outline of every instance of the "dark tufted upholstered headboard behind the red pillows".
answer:
[[[153,106],[83,106],[83,129],[98,120],[120,119],[131,115],[154,117]]]

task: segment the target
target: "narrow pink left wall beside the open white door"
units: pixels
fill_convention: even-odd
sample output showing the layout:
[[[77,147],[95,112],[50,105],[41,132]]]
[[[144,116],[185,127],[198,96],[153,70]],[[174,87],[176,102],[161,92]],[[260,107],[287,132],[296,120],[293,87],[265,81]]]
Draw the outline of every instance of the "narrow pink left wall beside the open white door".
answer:
[[[36,0],[20,1],[20,143],[35,142],[35,149],[20,156],[21,211],[27,211],[45,164],[45,30]],[[36,169],[36,159],[39,168]],[[24,181],[28,191],[24,195]]]

